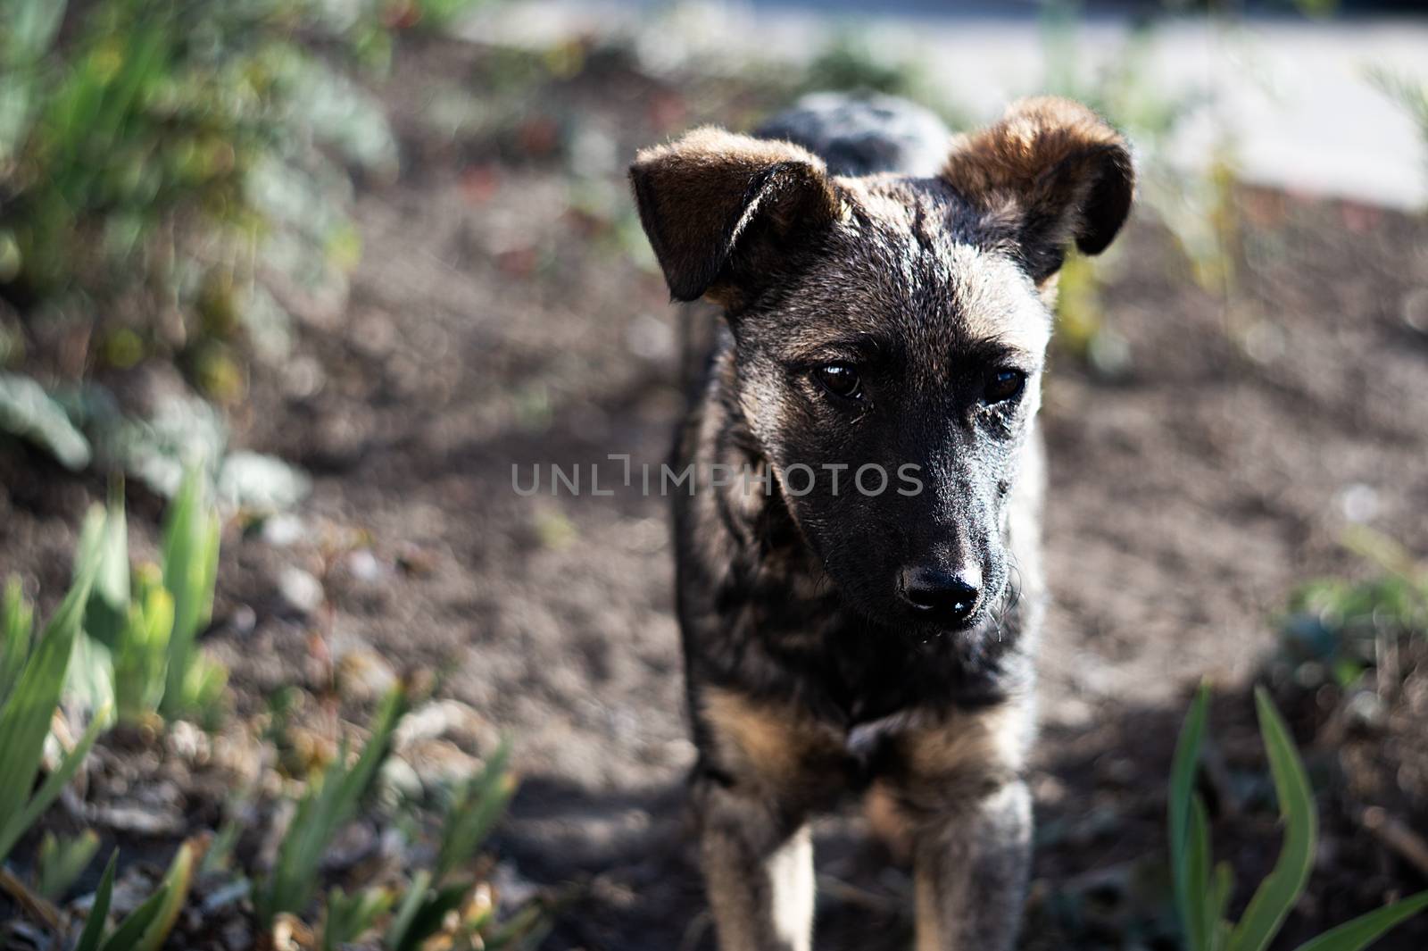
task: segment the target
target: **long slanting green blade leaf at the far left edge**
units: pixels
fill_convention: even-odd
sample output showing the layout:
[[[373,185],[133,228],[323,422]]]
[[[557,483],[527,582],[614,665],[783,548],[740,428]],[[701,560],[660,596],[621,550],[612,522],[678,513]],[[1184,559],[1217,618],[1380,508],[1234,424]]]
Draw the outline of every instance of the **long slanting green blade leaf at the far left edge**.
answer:
[[[40,794],[36,795],[36,801],[26,805],[34,777],[40,771],[44,737],[50,733],[50,718],[60,703],[64,671],[70,664],[74,638],[79,635],[80,618],[84,614],[84,604],[89,601],[97,567],[93,553],[91,557],[80,563],[79,577],[46,625],[44,635],[30,654],[19,683],[6,698],[4,707],[0,708],[0,817],[3,817],[0,818],[0,861],[4,860],[29,824],[37,818],[39,814],[31,807],[40,802],[43,811],[49,805],[49,802],[41,802],[46,791],[54,785],[53,794],[59,795],[63,783],[67,783],[69,775],[73,775],[74,770],[79,768],[74,754],[80,753],[81,748],[87,753],[87,747],[81,741],[80,747],[76,747],[74,753],[50,775]],[[60,775],[63,780],[56,785],[56,777]]]

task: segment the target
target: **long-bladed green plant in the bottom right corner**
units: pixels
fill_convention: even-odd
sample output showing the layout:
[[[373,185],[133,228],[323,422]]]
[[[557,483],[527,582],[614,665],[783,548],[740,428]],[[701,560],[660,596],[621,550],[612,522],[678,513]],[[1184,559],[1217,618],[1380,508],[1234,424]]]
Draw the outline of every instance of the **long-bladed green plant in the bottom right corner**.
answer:
[[[1234,877],[1227,862],[1212,865],[1210,818],[1204,800],[1195,791],[1197,764],[1210,713],[1208,687],[1201,687],[1195,695],[1175,745],[1170,788],[1171,875],[1175,907],[1190,951],[1268,948],[1304,892],[1314,864],[1318,811],[1304,763],[1284,718],[1262,687],[1255,688],[1255,710],[1285,832],[1274,868],[1255,888],[1238,922],[1225,918]],[[1428,891],[1361,915],[1302,944],[1298,951],[1358,951],[1425,908]]]

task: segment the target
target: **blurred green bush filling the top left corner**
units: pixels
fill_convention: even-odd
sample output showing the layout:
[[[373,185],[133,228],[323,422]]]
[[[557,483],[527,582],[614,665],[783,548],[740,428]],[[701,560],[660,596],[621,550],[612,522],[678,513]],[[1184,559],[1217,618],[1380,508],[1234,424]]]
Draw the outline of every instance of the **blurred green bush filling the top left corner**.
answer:
[[[346,294],[353,171],[396,167],[353,74],[473,3],[0,0],[0,310],[89,326],[86,368],[173,360],[206,397],[240,401],[250,351],[287,356],[280,301]],[[0,380],[0,433],[87,466],[26,380]],[[100,461],[133,461],[117,456]]]

